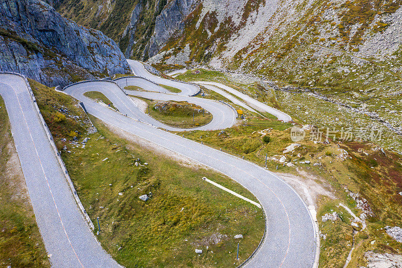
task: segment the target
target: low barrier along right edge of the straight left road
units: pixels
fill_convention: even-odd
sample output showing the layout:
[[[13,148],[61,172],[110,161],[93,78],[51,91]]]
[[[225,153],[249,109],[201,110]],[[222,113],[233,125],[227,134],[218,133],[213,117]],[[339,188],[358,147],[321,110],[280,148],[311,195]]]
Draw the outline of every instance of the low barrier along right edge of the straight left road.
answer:
[[[60,153],[57,150],[56,144],[54,143],[53,136],[52,136],[52,134],[51,134],[51,132],[50,132],[45,120],[42,117],[42,114],[41,114],[41,112],[39,110],[38,104],[36,103],[34,93],[32,91],[31,85],[28,82],[27,77],[25,75],[23,75],[21,73],[17,73],[17,72],[0,72],[0,73],[14,74],[14,75],[18,75],[22,79],[24,79],[24,81],[25,81],[25,83],[27,85],[28,91],[29,91],[29,93],[31,95],[32,101],[34,102],[34,107],[36,109],[36,112],[37,112],[37,115],[39,117],[39,120],[41,121],[41,123],[43,125],[43,128],[45,130],[46,136],[47,136],[47,138],[48,138],[48,140],[50,142],[50,145],[52,146],[52,148],[53,148],[53,150],[54,150],[54,152],[56,154],[56,158],[59,161],[59,164],[60,164],[60,167],[61,167],[61,169],[62,169],[62,171],[64,173],[64,176],[66,177],[66,181],[68,183],[68,186],[70,187],[70,190],[71,190],[71,192],[72,192],[72,194],[73,194],[73,196],[75,198],[75,202],[77,203],[78,208],[81,210],[81,213],[82,213],[84,219],[86,220],[86,222],[88,223],[89,227],[93,230],[94,229],[93,223],[92,223],[91,219],[89,218],[88,214],[86,213],[86,211],[85,211],[85,209],[84,209],[84,207],[83,207],[83,205],[81,203],[81,200],[79,199],[79,197],[77,195],[77,191],[75,191],[74,185],[73,185],[73,183],[71,181],[70,175],[68,174],[67,168],[66,168],[66,166],[65,166],[65,164],[63,162],[63,159],[61,159],[61,156],[60,156]]]

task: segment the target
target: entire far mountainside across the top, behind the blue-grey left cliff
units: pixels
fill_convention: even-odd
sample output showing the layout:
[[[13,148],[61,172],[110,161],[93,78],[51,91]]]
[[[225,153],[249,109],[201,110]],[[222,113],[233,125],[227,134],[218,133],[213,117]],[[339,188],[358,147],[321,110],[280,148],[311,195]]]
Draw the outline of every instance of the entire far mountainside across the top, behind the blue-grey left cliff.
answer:
[[[156,55],[151,63],[195,62],[346,90],[391,82],[397,94],[401,5],[401,0],[64,0],[57,9],[102,30],[126,57]],[[92,15],[85,16],[86,10]]]

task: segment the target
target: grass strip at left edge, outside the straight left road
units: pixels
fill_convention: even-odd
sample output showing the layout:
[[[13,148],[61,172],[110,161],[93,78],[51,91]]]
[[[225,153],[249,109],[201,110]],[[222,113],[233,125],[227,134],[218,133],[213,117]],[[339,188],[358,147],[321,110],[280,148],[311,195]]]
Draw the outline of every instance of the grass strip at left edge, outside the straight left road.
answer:
[[[16,155],[6,107],[0,97],[0,266],[50,267]],[[18,159],[17,159],[18,161]]]

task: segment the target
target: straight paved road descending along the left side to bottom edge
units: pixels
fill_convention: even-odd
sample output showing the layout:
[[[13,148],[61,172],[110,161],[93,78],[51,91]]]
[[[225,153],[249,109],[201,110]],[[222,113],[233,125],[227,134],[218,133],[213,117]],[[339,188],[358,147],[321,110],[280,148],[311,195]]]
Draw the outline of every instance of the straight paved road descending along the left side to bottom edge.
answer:
[[[0,73],[0,95],[6,104],[32,207],[52,266],[120,267],[86,225],[25,78]]]

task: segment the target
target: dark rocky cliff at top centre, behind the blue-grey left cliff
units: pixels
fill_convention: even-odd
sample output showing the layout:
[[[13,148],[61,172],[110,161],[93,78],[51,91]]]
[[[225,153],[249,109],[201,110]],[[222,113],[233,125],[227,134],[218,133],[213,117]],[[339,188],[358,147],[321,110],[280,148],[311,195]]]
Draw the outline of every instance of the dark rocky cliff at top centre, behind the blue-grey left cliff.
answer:
[[[101,30],[119,43],[127,58],[146,60],[158,53],[200,0],[72,0],[55,8],[75,22]]]

